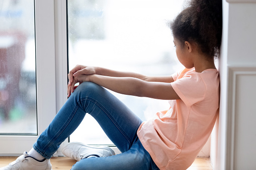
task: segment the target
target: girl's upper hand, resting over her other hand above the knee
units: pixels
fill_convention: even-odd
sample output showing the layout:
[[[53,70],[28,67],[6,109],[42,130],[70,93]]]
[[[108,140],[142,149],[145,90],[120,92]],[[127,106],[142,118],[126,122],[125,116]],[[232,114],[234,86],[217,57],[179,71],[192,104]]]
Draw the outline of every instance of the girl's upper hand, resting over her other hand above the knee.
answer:
[[[72,70],[68,73],[68,85],[70,86],[73,82],[74,77],[77,77],[79,75],[91,75],[96,74],[95,67],[89,67],[89,66],[82,66],[82,65],[76,65]]]

